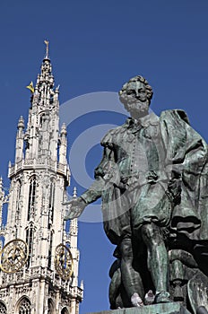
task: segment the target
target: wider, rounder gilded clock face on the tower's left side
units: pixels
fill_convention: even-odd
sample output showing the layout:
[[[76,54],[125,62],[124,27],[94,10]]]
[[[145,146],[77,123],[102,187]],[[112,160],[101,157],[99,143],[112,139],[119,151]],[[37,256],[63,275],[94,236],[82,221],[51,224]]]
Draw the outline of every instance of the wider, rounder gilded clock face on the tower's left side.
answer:
[[[16,273],[27,262],[28,254],[29,249],[25,241],[11,240],[0,252],[0,268],[4,273]]]

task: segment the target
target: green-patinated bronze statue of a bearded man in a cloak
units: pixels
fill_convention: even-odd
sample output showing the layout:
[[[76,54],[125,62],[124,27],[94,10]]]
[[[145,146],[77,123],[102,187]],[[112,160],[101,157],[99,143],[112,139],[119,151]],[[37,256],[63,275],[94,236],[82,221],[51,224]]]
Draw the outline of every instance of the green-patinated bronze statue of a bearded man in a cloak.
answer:
[[[207,144],[185,111],[149,112],[152,87],[142,76],[124,84],[119,99],[130,118],[101,140],[95,180],[67,202],[65,220],[101,197],[104,230],[117,245],[110,309],[126,309],[115,313],[188,313],[164,304],[188,300],[193,314],[208,308]]]

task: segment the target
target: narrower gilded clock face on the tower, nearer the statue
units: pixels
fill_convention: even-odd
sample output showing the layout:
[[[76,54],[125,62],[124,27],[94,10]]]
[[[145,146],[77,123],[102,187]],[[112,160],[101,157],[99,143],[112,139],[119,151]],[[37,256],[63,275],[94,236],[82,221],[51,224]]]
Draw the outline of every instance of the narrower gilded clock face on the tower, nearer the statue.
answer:
[[[73,256],[64,244],[59,244],[55,251],[55,268],[58,275],[62,279],[67,280],[71,277],[74,271]]]

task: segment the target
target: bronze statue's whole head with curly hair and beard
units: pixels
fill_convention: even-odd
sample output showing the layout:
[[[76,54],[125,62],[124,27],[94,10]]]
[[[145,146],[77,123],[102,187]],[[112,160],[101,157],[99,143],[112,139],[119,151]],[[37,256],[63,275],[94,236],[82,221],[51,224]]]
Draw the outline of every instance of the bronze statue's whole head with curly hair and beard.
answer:
[[[119,91],[120,101],[133,118],[148,114],[152,95],[152,87],[141,75],[131,78]]]

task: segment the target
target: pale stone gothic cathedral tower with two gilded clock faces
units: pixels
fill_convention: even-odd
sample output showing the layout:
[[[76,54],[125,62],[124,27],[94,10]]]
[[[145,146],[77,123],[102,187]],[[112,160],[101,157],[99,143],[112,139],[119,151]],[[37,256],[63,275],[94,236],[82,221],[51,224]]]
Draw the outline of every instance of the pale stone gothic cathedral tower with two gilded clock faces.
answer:
[[[15,163],[9,165],[11,187],[1,251],[0,313],[78,314],[77,220],[65,232],[66,127],[59,131],[58,88],[47,53],[33,87],[25,130],[18,123]],[[0,182],[0,207],[3,203]],[[0,213],[1,216],[1,213]]]

